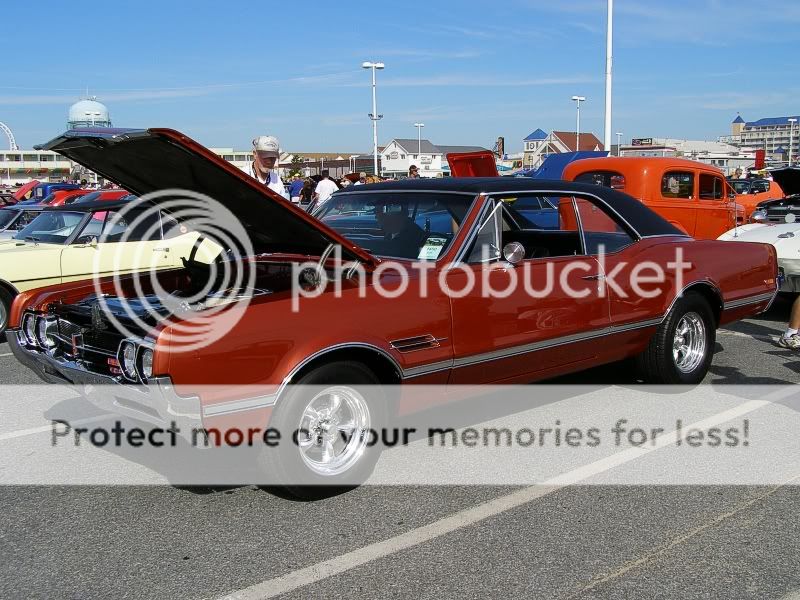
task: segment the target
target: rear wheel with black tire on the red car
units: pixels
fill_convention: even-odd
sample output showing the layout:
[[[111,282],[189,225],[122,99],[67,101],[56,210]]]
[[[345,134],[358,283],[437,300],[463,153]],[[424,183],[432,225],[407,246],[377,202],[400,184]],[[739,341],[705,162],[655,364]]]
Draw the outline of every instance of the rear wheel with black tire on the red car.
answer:
[[[673,350],[678,342],[679,324],[682,325],[682,329],[683,325],[690,325],[687,340],[691,339],[691,335],[699,337],[699,326],[702,324],[702,350],[696,348],[687,353],[679,351],[678,357],[675,356]],[[696,292],[688,292],[679,298],[667,318],[658,326],[647,350],[636,359],[644,380],[647,383],[685,385],[696,385],[703,381],[714,357],[716,327],[714,314],[703,296]],[[687,344],[686,347],[695,348],[693,344]],[[689,356],[691,357],[681,360],[681,357]]]

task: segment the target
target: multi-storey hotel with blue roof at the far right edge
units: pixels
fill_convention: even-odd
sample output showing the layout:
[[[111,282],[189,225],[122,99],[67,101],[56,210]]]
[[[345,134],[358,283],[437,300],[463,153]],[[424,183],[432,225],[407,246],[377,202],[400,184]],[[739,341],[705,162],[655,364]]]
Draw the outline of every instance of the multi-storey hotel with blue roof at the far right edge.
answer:
[[[745,121],[737,115],[731,123],[731,135],[721,136],[720,142],[751,151],[764,150],[767,158],[777,162],[797,162],[800,151],[800,116],[768,117]]]

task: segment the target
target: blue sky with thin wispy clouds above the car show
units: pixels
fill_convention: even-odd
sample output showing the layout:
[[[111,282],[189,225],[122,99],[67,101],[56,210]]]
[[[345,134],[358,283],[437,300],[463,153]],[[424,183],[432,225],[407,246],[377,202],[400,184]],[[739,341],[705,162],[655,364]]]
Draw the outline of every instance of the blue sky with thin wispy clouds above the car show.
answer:
[[[422,121],[435,143],[491,147],[502,135],[518,151],[537,127],[574,131],[574,94],[588,98],[581,129],[602,139],[605,5],[59,0],[32,15],[8,3],[0,121],[29,148],[65,128],[88,87],[117,126],[173,127],[208,146],[273,134],[290,151],[368,152],[360,64],[382,60],[382,144],[415,137]],[[612,129],[714,139],[737,112],[796,114],[799,39],[798,0],[616,0]]]

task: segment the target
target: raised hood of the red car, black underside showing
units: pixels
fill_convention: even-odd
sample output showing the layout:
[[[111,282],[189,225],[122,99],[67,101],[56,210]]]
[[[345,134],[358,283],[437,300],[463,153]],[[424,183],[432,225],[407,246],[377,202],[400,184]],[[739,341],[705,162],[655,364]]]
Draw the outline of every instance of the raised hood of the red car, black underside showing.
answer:
[[[377,262],[363,248],[178,131],[72,129],[36,148],[54,150],[137,196],[162,190],[210,196],[241,221],[256,254],[321,256],[330,244],[338,244],[346,259]]]

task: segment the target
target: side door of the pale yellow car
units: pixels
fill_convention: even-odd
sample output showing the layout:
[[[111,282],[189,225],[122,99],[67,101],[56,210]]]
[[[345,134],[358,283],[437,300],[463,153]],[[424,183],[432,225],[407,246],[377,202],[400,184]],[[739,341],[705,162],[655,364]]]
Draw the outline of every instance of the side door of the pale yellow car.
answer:
[[[61,253],[63,281],[170,266],[156,211],[99,211]]]

